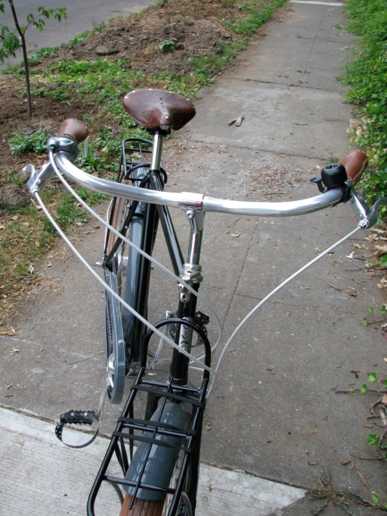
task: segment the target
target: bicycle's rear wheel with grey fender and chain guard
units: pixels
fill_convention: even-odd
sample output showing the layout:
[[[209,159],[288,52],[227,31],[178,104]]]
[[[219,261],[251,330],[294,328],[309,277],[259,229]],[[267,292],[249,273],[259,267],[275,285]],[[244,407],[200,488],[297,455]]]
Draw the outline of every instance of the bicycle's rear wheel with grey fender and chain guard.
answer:
[[[133,167],[134,169],[134,167]],[[147,168],[129,168],[121,181],[139,186],[145,181]],[[126,179],[130,178],[130,179]],[[133,244],[152,253],[157,227],[154,207],[143,202],[113,198],[108,210],[108,222]],[[107,230],[105,235],[106,283],[143,317],[147,317],[149,261]],[[112,403],[120,403],[124,395],[125,377],[131,362],[140,356],[140,344],[145,333],[143,324],[111,293],[105,291],[105,351],[108,395]]]

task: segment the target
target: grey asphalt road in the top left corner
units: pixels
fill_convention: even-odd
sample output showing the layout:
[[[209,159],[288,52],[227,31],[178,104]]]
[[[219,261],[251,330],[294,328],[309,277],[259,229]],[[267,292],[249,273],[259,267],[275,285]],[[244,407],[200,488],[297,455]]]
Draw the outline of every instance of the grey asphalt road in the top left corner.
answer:
[[[42,4],[45,8],[53,8],[65,5],[67,8],[67,20],[57,22],[57,20],[46,20],[45,29],[39,32],[35,27],[30,27],[27,32],[27,45],[30,53],[34,53],[41,47],[56,47],[61,43],[73,38],[78,32],[87,31],[95,24],[108,22],[110,18],[119,15],[129,15],[136,13],[148,6],[150,0],[117,0],[106,2],[104,0],[24,0],[17,1],[15,6],[19,23],[25,24],[29,13],[36,13],[38,6]],[[8,2],[5,2],[5,13],[0,13],[0,24],[8,27],[15,27],[12,13]],[[5,64],[19,61],[21,54],[17,58],[10,58]]]

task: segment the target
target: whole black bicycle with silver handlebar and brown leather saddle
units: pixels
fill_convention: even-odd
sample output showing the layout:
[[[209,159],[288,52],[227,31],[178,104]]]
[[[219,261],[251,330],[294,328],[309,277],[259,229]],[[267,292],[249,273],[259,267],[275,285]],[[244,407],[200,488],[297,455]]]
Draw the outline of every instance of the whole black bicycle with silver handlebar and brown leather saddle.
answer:
[[[100,407],[97,413],[70,411],[62,414],[56,433],[63,440],[63,432],[68,425],[98,425],[105,395],[112,403],[119,403],[124,397],[126,378],[134,376],[129,397],[89,495],[87,514],[94,515],[99,489],[103,482],[108,482],[115,487],[122,502],[121,516],[190,516],[196,509],[200,438],[205,401],[213,385],[211,375],[217,373],[236,332],[263,303],[307,267],[359,230],[373,226],[377,222],[379,205],[387,204],[387,198],[379,199],[369,208],[356,192],[354,186],[367,166],[367,156],[361,151],[349,152],[339,163],[323,168],[321,177],[312,179],[319,188],[319,195],[309,199],[244,202],[196,193],[166,193],[164,185],[168,177],[161,165],[163,138],[171,129],[182,128],[194,117],[194,105],[169,91],[143,89],[127,94],[124,108],[138,125],[147,129],[153,140],[136,138],[122,142],[116,182],[92,177],[74,165],[78,144],[88,135],[87,128],[74,119],[64,121],[59,136],[48,140],[48,163],[38,171],[33,165],[24,169],[31,174],[29,190],[45,214],[66,244],[105,287],[107,376]],[[103,261],[99,264],[104,279],[76,251],[39,196],[41,185],[54,173],[75,199],[106,227]],[[106,221],[80,199],[62,175],[88,189],[112,196]],[[212,354],[221,339],[221,331],[217,342],[211,345],[207,335],[209,316],[196,309],[199,299],[216,317],[198,293],[203,281],[200,248],[205,212],[292,216],[316,212],[340,202],[352,205],[360,219],[358,226],[259,302],[235,329],[219,356],[217,367],[212,368]],[[187,260],[184,260],[168,207],[184,209],[189,221]],[[152,258],[159,223],[174,272]],[[176,311],[168,311],[165,318],[153,325],[147,320],[151,264],[173,277],[178,290]],[[221,330],[219,319],[217,323]],[[158,339],[155,343],[151,342],[153,337]],[[204,351],[197,357],[193,348],[203,348]],[[166,380],[148,379],[147,374],[155,373],[165,375]],[[192,383],[193,378],[195,384]],[[145,399],[141,399],[141,395]],[[135,417],[135,403],[143,411],[143,418]],[[91,438],[87,434],[87,443],[73,447],[91,443],[97,432],[98,427]],[[136,450],[135,442],[139,443]],[[121,476],[107,473],[113,457],[122,470]]]

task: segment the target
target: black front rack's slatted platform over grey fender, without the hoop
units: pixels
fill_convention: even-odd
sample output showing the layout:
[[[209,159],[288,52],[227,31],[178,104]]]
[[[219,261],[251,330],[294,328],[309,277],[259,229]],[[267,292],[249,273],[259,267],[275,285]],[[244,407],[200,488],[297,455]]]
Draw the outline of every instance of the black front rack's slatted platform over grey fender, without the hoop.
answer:
[[[112,433],[110,445],[89,494],[89,500],[87,501],[88,516],[94,516],[94,503],[103,482],[117,486],[117,492],[121,492],[119,487],[123,487],[124,491],[131,495],[131,505],[135,503],[137,497],[156,500],[170,495],[168,515],[174,514],[182,494],[189,461],[191,457],[193,460],[198,459],[193,455],[194,450],[200,449],[208,378],[203,378],[199,388],[189,388],[173,384],[172,381],[168,383],[147,381],[144,376],[145,368],[142,368],[136,381],[131,386],[124,411],[117,420],[117,427]],[[154,413],[156,419],[154,417],[152,419],[136,419],[133,417],[133,404],[138,392],[147,392],[148,397],[150,396],[158,404],[159,408]],[[166,422],[168,420],[168,416],[166,416],[168,404],[169,407],[170,404],[175,406],[187,404],[191,408],[190,421],[187,427],[184,428],[184,424],[181,425],[182,427],[177,427]],[[142,434],[135,434],[139,431]],[[134,462],[136,464],[133,468],[133,452],[135,451],[133,443],[136,441],[140,443],[137,450],[140,455],[138,455],[137,461],[135,457]],[[129,457],[127,448],[129,448]],[[168,476],[163,478],[160,472],[156,478],[152,475],[150,470],[152,470],[151,462],[156,452],[155,448],[158,448],[159,455],[164,455],[164,461],[160,461],[161,464],[164,462],[164,466],[168,466],[168,464],[165,464],[168,461],[175,464],[178,458],[180,467],[177,476],[173,478],[173,482],[170,482],[171,478],[168,478]],[[107,473],[108,466],[114,456],[122,469],[123,476],[111,476]],[[176,475],[176,471],[171,473]]]

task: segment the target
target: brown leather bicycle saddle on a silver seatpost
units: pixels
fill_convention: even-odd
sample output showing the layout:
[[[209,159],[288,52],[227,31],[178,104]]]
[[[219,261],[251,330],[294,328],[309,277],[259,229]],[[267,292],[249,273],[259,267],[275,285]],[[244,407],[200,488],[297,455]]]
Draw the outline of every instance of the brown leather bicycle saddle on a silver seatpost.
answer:
[[[146,129],[181,129],[196,115],[194,104],[164,89],[135,89],[124,96],[126,112]]]

